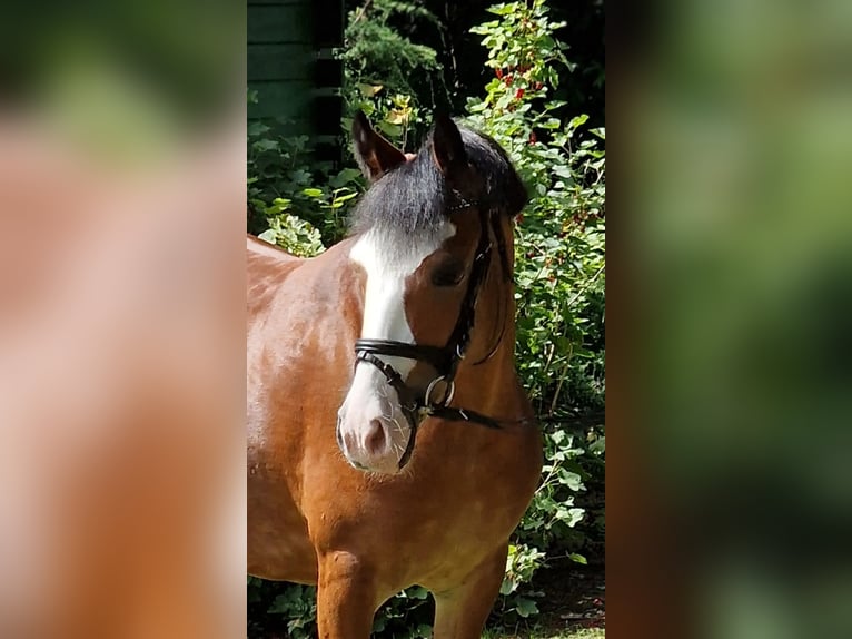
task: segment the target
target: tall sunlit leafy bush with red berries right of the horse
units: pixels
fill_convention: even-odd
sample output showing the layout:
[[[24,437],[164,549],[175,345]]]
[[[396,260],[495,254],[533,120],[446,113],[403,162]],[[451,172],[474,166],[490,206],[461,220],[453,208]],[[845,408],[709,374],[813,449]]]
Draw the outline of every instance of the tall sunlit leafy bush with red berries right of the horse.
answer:
[[[485,97],[468,100],[468,121],[506,149],[531,196],[515,242],[516,355],[546,427],[542,484],[516,531],[521,543],[501,591],[501,621],[512,623],[534,613],[535,591],[521,584],[548,557],[586,563],[578,552],[585,534],[576,531],[585,509],[575,499],[590,480],[603,481],[601,424],[592,421],[577,433],[563,424],[604,405],[605,134],[583,131],[587,117],[569,117],[567,105],[551,98],[572,67],[553,38],[562,23],[548,19],[545,2],[489,11],[498,19],[472,31],[483,36],[494,78]],[[592,505],[595,520],[586,531],[602,534],[602,507]],[[518,566],[525,571],[512,577]]]

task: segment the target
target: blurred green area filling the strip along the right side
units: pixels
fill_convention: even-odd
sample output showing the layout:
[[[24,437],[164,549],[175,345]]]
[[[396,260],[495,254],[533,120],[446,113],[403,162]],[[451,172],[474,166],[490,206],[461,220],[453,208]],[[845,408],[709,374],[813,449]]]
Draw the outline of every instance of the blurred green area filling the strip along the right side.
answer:
[[[852,3],[656,9],[611,229],[671,583],[694,636],[852,637]]]

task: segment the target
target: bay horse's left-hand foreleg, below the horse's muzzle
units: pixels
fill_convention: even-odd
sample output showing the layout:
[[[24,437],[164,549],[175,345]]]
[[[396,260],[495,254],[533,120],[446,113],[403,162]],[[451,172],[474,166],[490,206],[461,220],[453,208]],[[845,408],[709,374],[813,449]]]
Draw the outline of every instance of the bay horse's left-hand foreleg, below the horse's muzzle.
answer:
[[[319,558],[319,639],[368,639],[376,612],[373,572],[348,552]]]

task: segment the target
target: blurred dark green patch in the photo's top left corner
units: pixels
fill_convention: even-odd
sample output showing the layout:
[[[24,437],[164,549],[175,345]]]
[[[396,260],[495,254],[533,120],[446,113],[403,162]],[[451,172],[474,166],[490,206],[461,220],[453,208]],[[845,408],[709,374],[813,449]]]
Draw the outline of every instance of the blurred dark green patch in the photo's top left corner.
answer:
[[[161,156],[245,108],[245,24],[221,0],[7,2],[0,107],[113,158]]]

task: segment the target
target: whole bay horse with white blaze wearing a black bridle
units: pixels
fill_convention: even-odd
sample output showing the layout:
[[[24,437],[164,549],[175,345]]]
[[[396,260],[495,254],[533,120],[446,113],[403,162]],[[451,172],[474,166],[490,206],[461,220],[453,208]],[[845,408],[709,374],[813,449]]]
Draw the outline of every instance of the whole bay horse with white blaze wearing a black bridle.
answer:
[[[358,114],[354,233],[248,238],[248,572],[317,583],[324,639],[419,584],[436,639],[482,633],[542,440],[514,363],[513,218],[491,138],[438,117],[406,156]],[[336,424],[336,425],[335,425]]]

